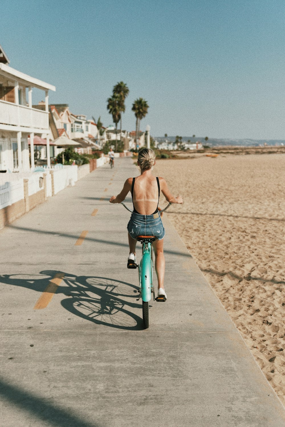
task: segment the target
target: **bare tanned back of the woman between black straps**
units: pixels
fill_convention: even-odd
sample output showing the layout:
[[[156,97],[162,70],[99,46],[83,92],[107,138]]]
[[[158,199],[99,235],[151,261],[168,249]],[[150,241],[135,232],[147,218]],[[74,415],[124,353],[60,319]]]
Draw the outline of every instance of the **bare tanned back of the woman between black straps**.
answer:
[[[153,175],[139,175],[135,178],[132,193],[134,208],[141,215],[151,215],[159,202],[159,188]]]

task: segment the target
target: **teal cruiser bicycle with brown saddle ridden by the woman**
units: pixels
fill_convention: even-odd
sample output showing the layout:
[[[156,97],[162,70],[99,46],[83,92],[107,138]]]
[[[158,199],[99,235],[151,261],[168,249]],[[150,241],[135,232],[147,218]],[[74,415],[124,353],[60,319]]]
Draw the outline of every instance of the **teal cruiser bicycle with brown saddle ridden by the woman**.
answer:
[[[121,205],[124,206],[129,212],[132,212],[126,205],[121,202]],[[159,211],[160,213],[166,211],[169,208],[171,203],[169,203],[166,208]],[[139,282],[139,296],[137,301],[141,298],[142,300],[142,311],[143,311],[143,322],[144,328],[149,328],[149,301],[151,300],[151,294],[153,294],[153,301],[165,302],[165,297],[155,296],[154,286],[153,286],[153,247],[152,244],[156,240],[154,236],[138,236],[138,242],[141,242],[142,245],[142,256],[140,264],[129,263],[128,268],[136,269],[138,268],[138,282]]]

